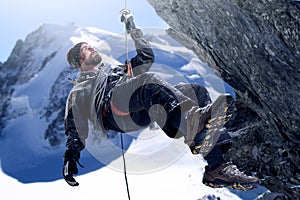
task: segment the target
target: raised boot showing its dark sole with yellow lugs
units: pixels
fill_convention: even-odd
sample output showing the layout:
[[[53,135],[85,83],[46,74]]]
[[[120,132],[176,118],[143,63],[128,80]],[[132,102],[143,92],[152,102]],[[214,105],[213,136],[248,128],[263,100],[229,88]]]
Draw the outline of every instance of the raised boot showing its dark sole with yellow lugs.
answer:
[[[222,132],[224,132],[225,125],[230,120],[234,113],[234,99],[231,95],[222,94],[212,104],[207,105],[201,109],[201,117],[195,117],[193,120],[188,120],[188,128],[186,143],[190,146],[193,154],[202,154],[206,156],[219,140]],[[198,126],[196,126],[196,119],[198,119]],[[197,127],[198,129],[195,129]],[[205,129],[205,131],[200,132]],[[201,139],[197,136],[201,135]],[[200,142],[201,141],[201,142]]]

